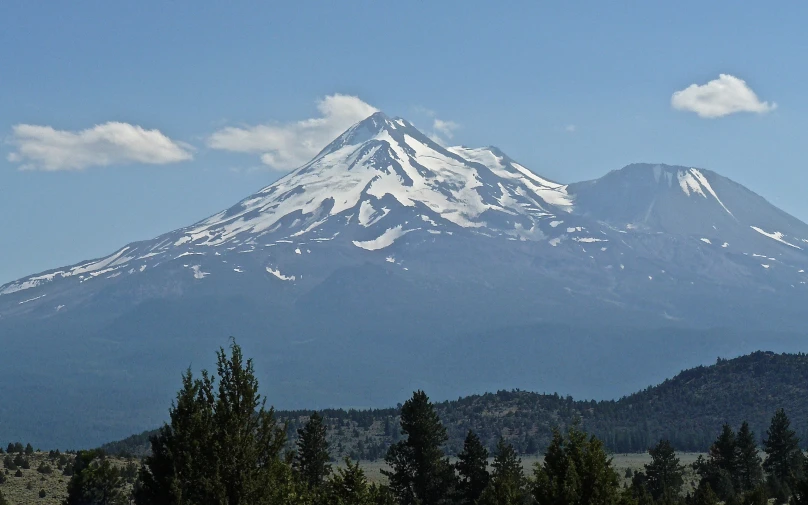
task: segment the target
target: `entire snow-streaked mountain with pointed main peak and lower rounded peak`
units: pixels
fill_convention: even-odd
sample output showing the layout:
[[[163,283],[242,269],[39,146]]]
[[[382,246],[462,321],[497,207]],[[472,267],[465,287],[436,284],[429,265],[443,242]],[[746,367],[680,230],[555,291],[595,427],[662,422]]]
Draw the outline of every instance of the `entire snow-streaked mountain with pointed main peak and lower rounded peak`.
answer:
[[[20,357],[0,395],[33,402],[35,386],[58,419],[68,387],[88,409],[126,399],[98,441],[127,435],[160,419],[147,391],[169,398],[177,370],[233,334],[272,364],[283,407],[387,405],[413,385],[610,396],[694,364],[689,349],[801,332],[806,268],[808,225],[709,170],[637,164],[564,185],[376,113],[214,216],[0,286],[2,344]],[[659,344],[658,328],[679,336]],[[596,364],[562,359],[581,346]],[[31,360],[52,372],[11,380]],[[593,373],[608,379],[581,381]]]

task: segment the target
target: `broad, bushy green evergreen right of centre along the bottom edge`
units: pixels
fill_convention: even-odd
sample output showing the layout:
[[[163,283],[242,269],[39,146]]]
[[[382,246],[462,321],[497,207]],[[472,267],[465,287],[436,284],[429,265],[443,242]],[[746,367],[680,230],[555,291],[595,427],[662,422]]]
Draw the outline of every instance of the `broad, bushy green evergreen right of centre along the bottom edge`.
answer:
[[[544,463],[534,470],[533,496],[539,505],[612,505],[620,480],[603,443],[573,425],[567,438],[553,431]]]

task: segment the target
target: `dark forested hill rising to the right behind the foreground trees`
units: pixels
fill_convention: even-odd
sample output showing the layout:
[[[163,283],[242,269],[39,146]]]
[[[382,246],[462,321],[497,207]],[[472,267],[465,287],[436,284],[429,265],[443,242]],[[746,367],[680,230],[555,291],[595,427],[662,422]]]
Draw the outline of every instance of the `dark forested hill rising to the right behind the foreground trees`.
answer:
[[[758,439],[778,408],[808,440],[808,356],[756,352],[686,370],[662,384],[616,401],[576,401],[558,394],[499,391],[437,404],[456,453],[469,429],[490,447],[500,435],[522,453],[546,447],[553,427],[580,419],[614,452],[641,452],[661,438],[677,450],[704,451],[725,422],[749,422]],[[282,411],[289,435],[310,412]],[[326,410],[332,455],[377,459],[398,436],[397,409]],[[142,453],[148,433],[108,444],[109,452]]]

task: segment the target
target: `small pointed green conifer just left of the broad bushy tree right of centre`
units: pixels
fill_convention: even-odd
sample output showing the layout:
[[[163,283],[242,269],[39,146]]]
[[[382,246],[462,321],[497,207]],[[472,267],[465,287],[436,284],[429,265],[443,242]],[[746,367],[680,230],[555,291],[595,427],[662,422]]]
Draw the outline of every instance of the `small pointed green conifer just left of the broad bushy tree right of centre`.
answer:
[[[493,471],[488,486],[483,491],[478,505],[521,505],[530,503],[526,489],[522,460],[511,444],[500,438],[491,464]]]

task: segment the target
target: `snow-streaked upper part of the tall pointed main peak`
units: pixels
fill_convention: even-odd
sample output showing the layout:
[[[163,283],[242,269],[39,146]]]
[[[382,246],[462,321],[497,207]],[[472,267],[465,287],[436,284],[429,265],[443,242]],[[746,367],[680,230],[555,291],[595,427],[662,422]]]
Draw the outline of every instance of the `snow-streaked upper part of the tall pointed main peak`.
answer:
[[[446,149],[406,120],[379,112],[349,128],[311,162],[186,230],[186,236],[189,243],[210,245],[245,233],[288,239],[316,235],[337,216],[367,228],[368,209],[380,216],[371,224],[391,216],[381,223],[384,230],[413,230],[406,221],[415,218],[449,231],[522,236],[538,233],[540,221],[570,205],[564,186],[498,151]]]

